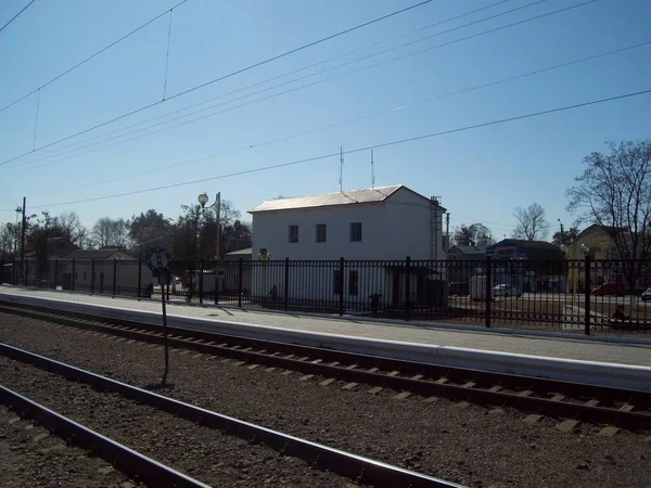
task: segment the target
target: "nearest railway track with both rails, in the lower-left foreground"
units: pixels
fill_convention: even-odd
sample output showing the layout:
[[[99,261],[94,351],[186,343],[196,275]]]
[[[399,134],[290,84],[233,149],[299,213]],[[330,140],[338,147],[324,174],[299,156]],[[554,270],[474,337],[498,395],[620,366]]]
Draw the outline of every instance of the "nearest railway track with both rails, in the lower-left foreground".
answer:
[[[145,406],[151,410],[152,413],[149,413],[149,410],[141,411],[141,418],[153,416],[155,412],[166,412],[175,418],[192,422],[197,425],[196,428],[208,428],[228,436],[244,439],[250,444],[264,445],[280,452],[283,458],[301,459],[306,461],[312,468],[335,473],[363,486],[409,486],[412,488],[460,486],[243,422],[1,343],[0,355],[48,371],[65,380],[92,386],[93,389],[85,390],[84,396],[94,398],[92,402],[93,409],[103,403],[101,399],[103,395],[111,393],[118,394],[124,399]],[[40,385],[37,387],[40,387]],[[51,388],[53,391],[60,390],[61,385],[54,384]],[[85,400],[87,401],[87,399]],[[67,399],[63,401],[67,401]],[[55,413],[4,386],[0,386],[0,402],[10,406],[21,415],[38,421],[46,427],[59,433],[62,437],[72,439],[75,444],[93,451],[107,461],[113,462],[117,460],[120,471],[125,471],[125,473],[133,478],[148,485],[170,487],[207,486],[90,431],[71,419]],[[88,407],[89,403],[84,403],[82,408],[86,409]],[[133,428],[133,419],[127,418],[125,421],[125,416],[128,416],[130,411],[129,409],[124,410],[113,412],[111,421],[115,422],[115,424],[123,423],[125,425],[124,431],[128,432]],[[166,427],[170,429],[169,426],[161,426],[162,429]],[[219,452],[215,454],[219,457]]]

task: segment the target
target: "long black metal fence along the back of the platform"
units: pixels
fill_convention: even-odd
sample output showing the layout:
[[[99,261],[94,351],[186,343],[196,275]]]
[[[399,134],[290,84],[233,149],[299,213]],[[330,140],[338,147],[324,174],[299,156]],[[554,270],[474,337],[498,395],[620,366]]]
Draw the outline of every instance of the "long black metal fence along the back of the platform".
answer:
[[[569,332],[651,331],[651,260],[2,261],[2,282],[139,299]],[[648,299],[649,301],[646,301]]]

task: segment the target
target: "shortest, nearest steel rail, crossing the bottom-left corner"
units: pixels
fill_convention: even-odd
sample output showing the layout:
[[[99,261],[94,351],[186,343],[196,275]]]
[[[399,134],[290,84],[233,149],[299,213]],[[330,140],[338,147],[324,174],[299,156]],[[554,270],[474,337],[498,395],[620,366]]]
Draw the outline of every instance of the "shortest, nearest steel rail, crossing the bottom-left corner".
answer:
[[[21,416],[34,420],[59,437],[92,452],[129,477],[149,486],[209,488],[208,485],[161,464],[2,385],[0,403],[11,407]]]

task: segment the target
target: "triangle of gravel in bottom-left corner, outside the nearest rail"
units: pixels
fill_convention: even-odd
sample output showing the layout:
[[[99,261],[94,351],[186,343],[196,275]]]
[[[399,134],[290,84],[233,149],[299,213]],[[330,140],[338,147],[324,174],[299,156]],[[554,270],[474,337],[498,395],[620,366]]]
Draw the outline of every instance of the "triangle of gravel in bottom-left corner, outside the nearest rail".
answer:
[[[137,486],[105,461],[67,446],[7,407],[0,407],[0,485],[4,488]]]

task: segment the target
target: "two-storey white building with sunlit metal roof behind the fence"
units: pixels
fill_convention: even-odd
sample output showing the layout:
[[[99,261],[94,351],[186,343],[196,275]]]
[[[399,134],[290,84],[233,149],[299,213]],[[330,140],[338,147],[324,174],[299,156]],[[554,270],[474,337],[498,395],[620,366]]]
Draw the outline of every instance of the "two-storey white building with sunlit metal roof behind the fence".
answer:
[[[437,198],[401,184],[264,202],[250,210],[252,255],[259,260],[266,249],[271,261],[253,262],[252,294],[268,296],[276,285],[282,299],[286,273],[291,300],[337,301],[343,286],[346,304],[368,303],[369,295],[381,293],[385,305],[399,307],[407,296],[406,258],[447,259],[445,211]],[[442,303],[444,270],[433,262],[410,266],[410,301]]]

